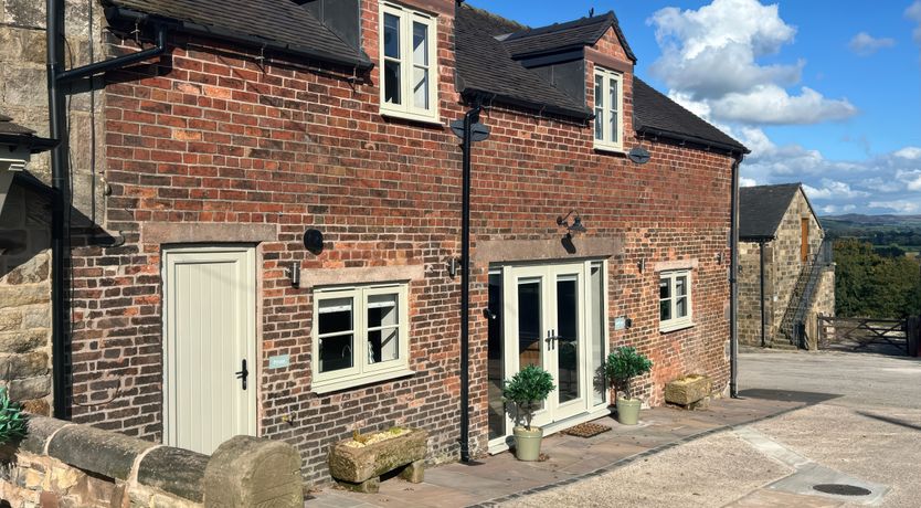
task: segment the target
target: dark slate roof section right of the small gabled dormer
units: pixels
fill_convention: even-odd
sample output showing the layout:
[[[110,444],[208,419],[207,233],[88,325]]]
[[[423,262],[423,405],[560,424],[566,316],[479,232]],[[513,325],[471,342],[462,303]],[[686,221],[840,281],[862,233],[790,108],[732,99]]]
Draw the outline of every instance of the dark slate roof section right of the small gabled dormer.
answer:
[[[633,80],[633,127],[637,133],[676,135],[721,148],[749,149],[638,77]]]

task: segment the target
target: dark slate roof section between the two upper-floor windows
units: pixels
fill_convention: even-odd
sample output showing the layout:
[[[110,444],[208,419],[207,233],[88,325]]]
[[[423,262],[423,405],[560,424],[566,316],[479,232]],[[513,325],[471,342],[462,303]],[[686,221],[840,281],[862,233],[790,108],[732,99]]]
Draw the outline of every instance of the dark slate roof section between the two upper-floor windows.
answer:
[[[591,109],[514,61],[496,34],[518,28],[480,9],[460,4],[455,17],[455,59],[460,93],[479,92],[548,113],[587,117]]]

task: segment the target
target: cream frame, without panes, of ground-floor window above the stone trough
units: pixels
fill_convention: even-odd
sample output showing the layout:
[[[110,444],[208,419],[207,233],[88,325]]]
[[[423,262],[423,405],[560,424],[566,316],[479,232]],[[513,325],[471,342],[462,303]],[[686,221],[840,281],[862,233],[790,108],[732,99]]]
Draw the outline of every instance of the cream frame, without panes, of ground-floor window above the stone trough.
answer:
[[[368,343],[369,327],[368,309],[372,296],[395,295],[398,330],[398,357],[395,360],[369,362],[370,346]],[[320,304],[330,299],[351,298],[352,300],[352,367],[331,372],[320,372]],[[315,393],[327,393],[349,388],[360,387],[393,378],[413,374],[410,370],[410,321],[409,321],[409,285],[374,284],[366,286],[326,287],[314,292],[314,326],[311,327],[311,390]]]

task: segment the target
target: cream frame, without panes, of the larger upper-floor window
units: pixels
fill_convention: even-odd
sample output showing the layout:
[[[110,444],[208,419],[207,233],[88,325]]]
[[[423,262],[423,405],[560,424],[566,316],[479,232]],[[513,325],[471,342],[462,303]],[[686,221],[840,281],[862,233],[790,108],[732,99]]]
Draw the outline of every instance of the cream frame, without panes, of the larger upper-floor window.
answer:
[[[393,59],[384,53],[384,15],[391,14],[400,20],[400,56]],[[438,22],[437,18],[404,6],[390,2],[380,2],[379,15],[379,53],[380,53],[380,114],[398,118],[416,120],[423,123],[438,123]],[[413,61],[413,24],[420,23],[426,27],[427,36],[427,68],[428,68],[428,107],[417,107],[413,94],[413,71],[416,67]],[[384,70],[387,61],[400,63],[400,97],[402,104],[388,103],[385,98]]]

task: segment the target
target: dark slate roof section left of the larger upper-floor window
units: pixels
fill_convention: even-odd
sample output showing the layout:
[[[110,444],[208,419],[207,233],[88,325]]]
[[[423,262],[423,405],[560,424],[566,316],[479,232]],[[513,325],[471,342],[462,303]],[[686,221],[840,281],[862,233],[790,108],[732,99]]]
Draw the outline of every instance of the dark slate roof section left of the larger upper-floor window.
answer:
[[[352,47],[306,8],[292,0],[105,0],[108,4],[192,23],[215,36],[243,35],[296,53],[370,66]]]

